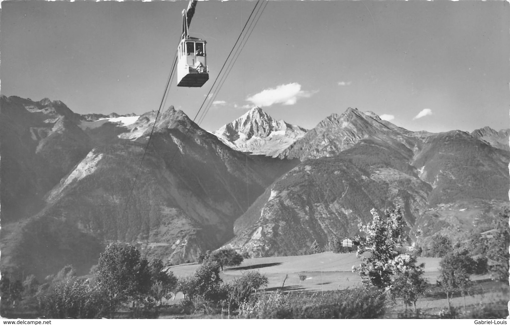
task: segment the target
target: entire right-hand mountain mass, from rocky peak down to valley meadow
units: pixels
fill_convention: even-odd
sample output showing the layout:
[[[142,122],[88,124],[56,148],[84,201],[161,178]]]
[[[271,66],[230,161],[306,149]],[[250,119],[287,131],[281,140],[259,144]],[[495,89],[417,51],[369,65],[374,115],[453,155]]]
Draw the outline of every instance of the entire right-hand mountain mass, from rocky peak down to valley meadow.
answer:
[[[285,156],[303,162],[236,221],[226,246],[254,256],[297,254],[314,240],[324,247],[333,237],[358,234],[371,208],[397,204],[409,229],[422,234],[415,242],[441,229],[462,237],[507,202],[508,151],[463,131],[411,132],[348,109],[319,123]]]

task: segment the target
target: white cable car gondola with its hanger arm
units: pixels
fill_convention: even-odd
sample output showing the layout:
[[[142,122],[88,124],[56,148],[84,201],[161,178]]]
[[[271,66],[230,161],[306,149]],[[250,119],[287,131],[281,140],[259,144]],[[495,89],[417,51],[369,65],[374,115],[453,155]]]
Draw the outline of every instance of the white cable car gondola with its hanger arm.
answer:
[[[188,9],[183,10],[183,33],[177,57],[177,86],[179,87],[202,87],[209,80],[207,42],[188,35],[196,3],[197,0],[191,0]]]

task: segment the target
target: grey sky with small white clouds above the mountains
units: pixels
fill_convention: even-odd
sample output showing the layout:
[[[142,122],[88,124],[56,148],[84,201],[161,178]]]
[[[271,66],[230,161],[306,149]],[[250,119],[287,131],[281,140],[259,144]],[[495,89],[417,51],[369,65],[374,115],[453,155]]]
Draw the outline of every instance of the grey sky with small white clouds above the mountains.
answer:
[[[210,80],[166,106],[193,118],[256,2],[199,2]],[[181,34],[176,2],[4,1],[0,92],[62,100],[77,113],[157,110]],[[201,127],[260,105],[313,128],[347,107],[410,130],[508,127],[506,1],[269,1]]]

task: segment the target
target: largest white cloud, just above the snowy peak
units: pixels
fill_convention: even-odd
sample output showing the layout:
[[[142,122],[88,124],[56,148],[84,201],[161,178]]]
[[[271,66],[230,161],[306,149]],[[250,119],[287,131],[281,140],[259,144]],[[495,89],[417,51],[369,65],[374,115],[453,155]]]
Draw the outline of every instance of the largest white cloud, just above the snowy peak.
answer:
[[[294,105],[298,98],[308,98],[315,92],[301,90],[301,85],[291,83],[280,85],[276,88],[264,89],[258,94],[246,98],[259,107],[271,106],[272,104]]]

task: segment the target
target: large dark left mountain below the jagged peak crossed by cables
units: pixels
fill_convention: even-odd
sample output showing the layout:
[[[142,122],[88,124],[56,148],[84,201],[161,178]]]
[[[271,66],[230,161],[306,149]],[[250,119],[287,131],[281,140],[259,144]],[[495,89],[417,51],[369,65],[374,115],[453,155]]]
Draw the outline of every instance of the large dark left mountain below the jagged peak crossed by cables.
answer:
[[[16,109],[27,111],[23,105]],[[61,165],[68,169],[48,185],[37,213],[3,227],[2,250],[9,257],[1,261],[4,268],[42,277],[73,263],[87,273],[109,241],[138,243],[146,256],[172,263],[193,259],[232,238],[237,217],[296,165],[235,151],[173,107],[157,121],[140,165],[153,115],[131,128],[112,123],[85,128],[103,129],[100,136],[88,136],[78,127],[82,120],[64,123],[97,145],[72,166]],[[53,159],[63,154],[68,153],[53,152]],[[11,190],[5,187],[6,194]]]

